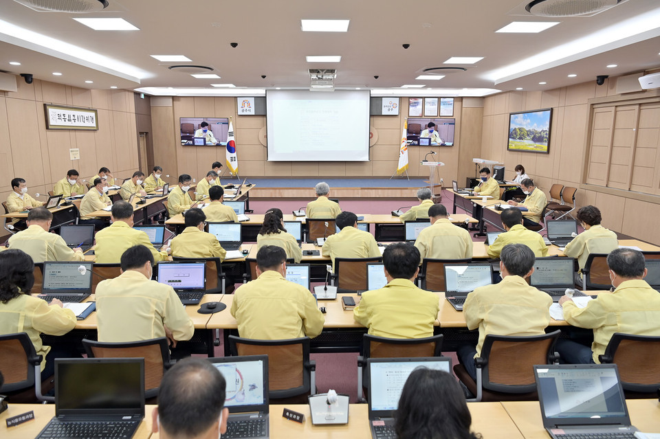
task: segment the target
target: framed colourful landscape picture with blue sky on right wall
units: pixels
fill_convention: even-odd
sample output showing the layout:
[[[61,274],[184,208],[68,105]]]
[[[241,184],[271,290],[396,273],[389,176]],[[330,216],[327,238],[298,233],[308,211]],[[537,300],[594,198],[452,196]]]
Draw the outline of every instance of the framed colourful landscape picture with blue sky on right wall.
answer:
[[[509,151],[548,153],[552,109],[509,114]]]

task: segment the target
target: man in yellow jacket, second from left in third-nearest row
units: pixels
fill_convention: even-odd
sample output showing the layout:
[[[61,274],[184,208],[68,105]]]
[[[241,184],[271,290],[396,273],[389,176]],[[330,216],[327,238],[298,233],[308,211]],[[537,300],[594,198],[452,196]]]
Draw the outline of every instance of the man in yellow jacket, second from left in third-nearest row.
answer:
[[[134,245],[144,245],[151,251],[155,261],[166,260],[167,252],[153,248],[146,232],[133,229],[133,206],[126,201],[118,201],[112,205],[110,227],[96,234],[94,256],[97,264],[118,264],[126,249]]]

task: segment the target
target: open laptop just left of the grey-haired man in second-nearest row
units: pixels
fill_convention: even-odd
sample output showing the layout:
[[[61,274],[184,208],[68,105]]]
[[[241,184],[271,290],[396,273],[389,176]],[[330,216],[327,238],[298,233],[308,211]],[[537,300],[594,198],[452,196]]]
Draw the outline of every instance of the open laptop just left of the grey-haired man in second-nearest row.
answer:
[[[445,296],[456,311],[463,311],[465,298],[475,288],[492,283],[491,264],[445,264]]]

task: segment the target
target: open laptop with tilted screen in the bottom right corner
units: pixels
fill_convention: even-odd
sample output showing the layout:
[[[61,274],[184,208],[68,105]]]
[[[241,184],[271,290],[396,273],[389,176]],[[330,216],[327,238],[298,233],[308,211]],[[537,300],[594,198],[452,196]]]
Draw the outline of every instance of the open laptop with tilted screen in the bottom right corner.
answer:
[[[534,376],[543,427],[553,439],[635,438],[616,364],[535,365]]]

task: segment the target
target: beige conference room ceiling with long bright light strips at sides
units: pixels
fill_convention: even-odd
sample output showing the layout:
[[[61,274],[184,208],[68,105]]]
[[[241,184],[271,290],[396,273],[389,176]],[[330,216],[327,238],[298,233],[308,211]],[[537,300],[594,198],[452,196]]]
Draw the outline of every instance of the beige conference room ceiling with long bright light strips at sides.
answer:
[[[337,69],[336,89],[377,89],[380,95],[486,95],[516,88],[556,89],[595,81],[597,75],[660,67],[657,0],[628,0],[595,16],[560,19],[522,15],[524,3],[519,0],[109,0],[109,8],[94,14],[36,12],[14,1],[2,3],[1,71],[90,89],[258,95],[274,87],[307,89],[308,69],[328,68]],[[122,18],[140,30],[96,31],[74,21],[91,17]],[[349,19],[350,24],[348,32],[303,32],[301,19]],[[559,23],[536,34],[495,32],[512,21]],[[40,43],[38,35],[26,31],[93,53],[47,48],[50,43]],[[576,42],[581,47],[571,47]],[[410,47],[404,49],[403,44]],[[193,78],[168,69],[175,63],[151,55],[184,55],[191,62],[179,64],[208,66],[213,69],[209,73],[221,78]],[[341,56],[341,61],[305,60],[331,55]],[[441,80],[415,79],[425,68],[448,67],[443,63],[452,56],[483,59],[452,65],[466,70]],[[613,64],[617,67],[606,67]],[[425,87],[400,89],[402,85]]]

